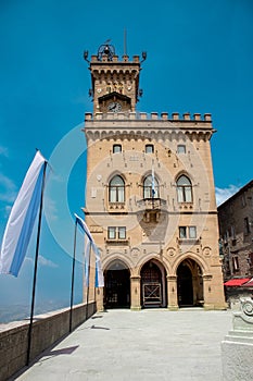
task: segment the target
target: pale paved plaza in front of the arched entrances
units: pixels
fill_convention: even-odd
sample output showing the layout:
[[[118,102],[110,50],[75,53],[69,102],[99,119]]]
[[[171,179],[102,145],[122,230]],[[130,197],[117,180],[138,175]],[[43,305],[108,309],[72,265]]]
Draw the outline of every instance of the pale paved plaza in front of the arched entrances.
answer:
[[[109,310],[43,353],[20,381],[219,381],[231,311]]]

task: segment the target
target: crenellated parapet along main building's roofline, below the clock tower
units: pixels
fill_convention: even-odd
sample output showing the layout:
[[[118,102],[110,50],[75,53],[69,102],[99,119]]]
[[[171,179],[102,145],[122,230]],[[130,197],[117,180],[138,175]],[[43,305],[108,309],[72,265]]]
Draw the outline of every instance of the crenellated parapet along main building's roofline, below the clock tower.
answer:
[[[110,122],[110,127],[109,127]],[[179,115],[163,112],[98,112],[86,113],[85,133],[88,140],[117,139],[155,139],[155,140],[210,140],[215,130],[212,126],[211,114],[189,113]]]

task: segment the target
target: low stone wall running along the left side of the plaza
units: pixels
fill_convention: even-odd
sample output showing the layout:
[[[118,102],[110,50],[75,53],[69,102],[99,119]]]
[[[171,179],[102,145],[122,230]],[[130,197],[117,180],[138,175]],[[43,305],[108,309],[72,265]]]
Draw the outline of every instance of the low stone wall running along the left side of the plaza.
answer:
[[[96,303],[73,307],[72,329],[96,312]],[[0,381],[26,366],[29,321],[15,321],[0,327]],[[34,318],[30,360],[69,332],[69,308]]]

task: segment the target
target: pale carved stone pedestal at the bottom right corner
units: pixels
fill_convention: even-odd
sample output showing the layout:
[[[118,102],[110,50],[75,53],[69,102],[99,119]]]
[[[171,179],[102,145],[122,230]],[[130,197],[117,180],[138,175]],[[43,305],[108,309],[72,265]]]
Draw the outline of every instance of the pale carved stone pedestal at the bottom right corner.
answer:
[[[253,379],[253,300],[240,299],[240,311],[233,312],[233,329],[222,342],[223,379]]]

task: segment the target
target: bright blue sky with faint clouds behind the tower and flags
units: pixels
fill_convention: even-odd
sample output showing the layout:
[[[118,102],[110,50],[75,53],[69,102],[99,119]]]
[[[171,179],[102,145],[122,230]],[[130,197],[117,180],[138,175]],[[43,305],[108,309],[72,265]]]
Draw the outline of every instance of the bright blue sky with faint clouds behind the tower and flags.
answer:
[[[74,221],[85,200],[84,113],[92,111],[84,50],[111,38],[130,57],[148,52],[138,110],[212,113],[218,201],[252,180],[253,2],[148,3],[2,0],[0,3],[0,241],[39,148],[52,172],[46,193],[37,304],[67,305]],[[20,276],[0,276],[0,305],[29,304],[35,237]],[[78,259],[83,244],[78,234]],[[77,267],[76,302],[81,298]]]

